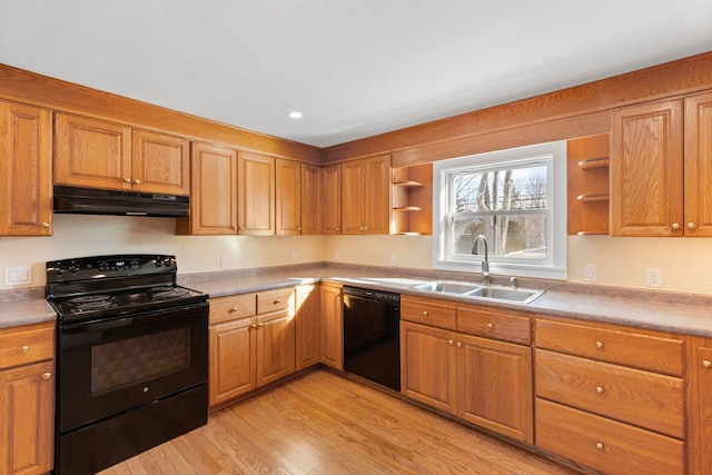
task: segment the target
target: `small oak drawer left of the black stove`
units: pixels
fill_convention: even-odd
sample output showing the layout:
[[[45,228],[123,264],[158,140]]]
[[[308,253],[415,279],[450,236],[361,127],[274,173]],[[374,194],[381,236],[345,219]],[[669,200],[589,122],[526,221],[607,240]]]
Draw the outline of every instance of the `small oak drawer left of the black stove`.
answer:
[[[55,358],[55,324],[0,330],[0,368]]]

